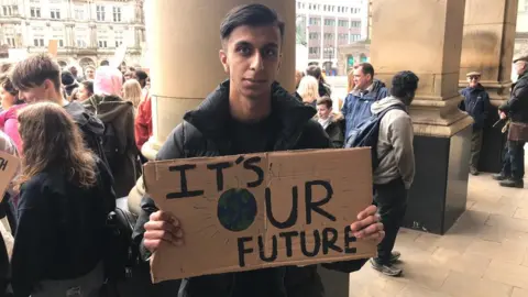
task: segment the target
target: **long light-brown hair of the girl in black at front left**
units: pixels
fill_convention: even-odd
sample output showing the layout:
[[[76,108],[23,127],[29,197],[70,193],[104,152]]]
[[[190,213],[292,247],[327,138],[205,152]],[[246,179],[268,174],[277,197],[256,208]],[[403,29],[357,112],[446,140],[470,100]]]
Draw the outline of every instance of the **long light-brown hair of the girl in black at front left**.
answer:
[[[90,188],[96,184],[96,158],[85,148],[79,129],[64,108],[53,102],[23,108],[19,113],[19,132],[24,156],[16,189],[52,168],[79,187]]]

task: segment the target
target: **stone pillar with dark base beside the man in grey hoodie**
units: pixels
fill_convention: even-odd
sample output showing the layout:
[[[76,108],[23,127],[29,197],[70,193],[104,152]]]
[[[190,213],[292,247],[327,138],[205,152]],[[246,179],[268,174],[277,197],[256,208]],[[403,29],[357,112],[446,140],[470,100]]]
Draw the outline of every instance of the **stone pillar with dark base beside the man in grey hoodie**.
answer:
[[[413,9],[408,9],[413,8]],[[472,119],[458,110],[465,0],[376,0],[371,61],[387,85],[413,70],[416,175],[405,226],[443,234],[465,210]]]

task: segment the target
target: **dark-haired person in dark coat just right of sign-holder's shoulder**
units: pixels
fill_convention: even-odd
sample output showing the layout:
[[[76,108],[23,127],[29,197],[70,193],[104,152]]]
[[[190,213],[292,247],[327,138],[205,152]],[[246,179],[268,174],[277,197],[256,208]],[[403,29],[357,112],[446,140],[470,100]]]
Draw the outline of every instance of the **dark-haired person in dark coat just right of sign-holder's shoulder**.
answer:
[[[342,148],[344,145],[344,118],[343,114],[334,112],[332,99],[322,97],[317,101],[317,121],[327,132],[333,147]]]

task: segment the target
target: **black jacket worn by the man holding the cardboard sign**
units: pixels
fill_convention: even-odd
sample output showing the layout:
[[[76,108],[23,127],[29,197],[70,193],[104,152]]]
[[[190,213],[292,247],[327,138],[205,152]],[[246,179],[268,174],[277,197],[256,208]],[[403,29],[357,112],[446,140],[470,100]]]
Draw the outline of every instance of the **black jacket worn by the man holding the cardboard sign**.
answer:
[[[280,122],[273,151],[331,147],[321,125],[312,120],[316,110],[305,107],[278,84],[272,88],[272,112]],[[184,116],[184,122],[167,138],[157,160],[230,155],[233,148],[226,131],[230,118],[229,81],[226,81],[198,109]],[[143,226],[148,221],[148,216],[157,210],[153,200],[146,196],[143,197],[141,207],[142,212],[133,235],[136,242],[142,241]],[[143,255],[148,256],[143,244],[140,246]],[[349,268],[352,267],[350,272],[361,268],[365,261],[348,262],[351,264]],[[167,296],[169,294],[174,296],[174,292],[167,292]],[[183,282],[180,296],[321,297],[323,288],[316,266],[290,266],[193,277]]]

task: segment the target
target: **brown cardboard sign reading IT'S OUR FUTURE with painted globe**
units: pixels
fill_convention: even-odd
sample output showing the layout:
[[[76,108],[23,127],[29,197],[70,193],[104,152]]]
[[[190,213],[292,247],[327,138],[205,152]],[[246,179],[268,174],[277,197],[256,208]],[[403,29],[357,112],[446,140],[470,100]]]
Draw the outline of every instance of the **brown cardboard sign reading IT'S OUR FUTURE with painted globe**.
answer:
[[[370,148],[152,162],[144,182],[185,233],[153,255],[155,283],[376,253],[350,231],[372,204]]]

